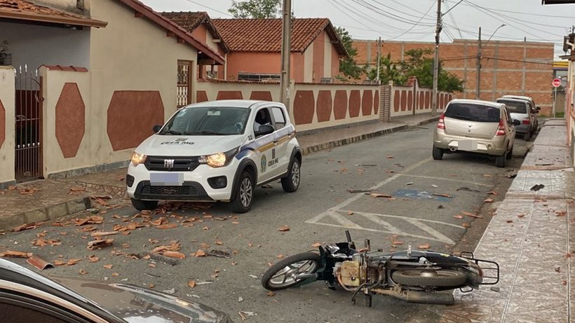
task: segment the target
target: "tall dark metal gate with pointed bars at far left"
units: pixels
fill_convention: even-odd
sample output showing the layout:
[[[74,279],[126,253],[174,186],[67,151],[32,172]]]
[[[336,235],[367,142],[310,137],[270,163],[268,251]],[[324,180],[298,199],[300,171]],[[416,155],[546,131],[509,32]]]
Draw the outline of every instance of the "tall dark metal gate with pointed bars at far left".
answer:
[[[16,71],[15,179],[39,179],[42,174],[42,86],[38,71],[25,65]]]

